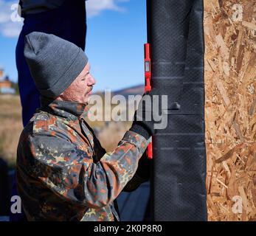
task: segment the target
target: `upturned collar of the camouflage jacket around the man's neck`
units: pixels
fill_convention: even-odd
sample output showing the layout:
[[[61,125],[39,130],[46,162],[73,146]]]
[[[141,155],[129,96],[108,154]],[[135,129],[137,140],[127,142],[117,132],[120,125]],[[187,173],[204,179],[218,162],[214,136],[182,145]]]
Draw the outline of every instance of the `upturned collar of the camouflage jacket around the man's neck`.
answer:
[[[40,110],[66,119],[76,120],[80,117],[85,118],[88,115],[88,106],[83,103],[69,101],[59,101],[47,97],[40,97]]]

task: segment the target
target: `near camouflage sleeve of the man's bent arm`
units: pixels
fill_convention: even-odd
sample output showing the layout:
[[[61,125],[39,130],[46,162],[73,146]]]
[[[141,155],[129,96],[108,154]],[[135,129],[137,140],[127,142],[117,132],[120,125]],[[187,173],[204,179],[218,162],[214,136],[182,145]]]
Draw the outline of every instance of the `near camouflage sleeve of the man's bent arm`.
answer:
[[[58,136],[30,136],[33,177],[65,200],[90,208],[110,204],[136,172],[148,145],[143,136],[127,131],[117,148],[100,162]]]

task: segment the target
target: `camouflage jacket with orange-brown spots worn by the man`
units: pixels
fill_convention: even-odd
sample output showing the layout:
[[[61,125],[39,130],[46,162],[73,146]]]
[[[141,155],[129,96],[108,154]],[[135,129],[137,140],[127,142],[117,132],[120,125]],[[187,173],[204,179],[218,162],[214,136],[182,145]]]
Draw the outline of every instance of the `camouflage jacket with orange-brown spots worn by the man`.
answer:
[[[29,221],[120,221],[114,201],[148,141],[127,131],[105,153],[79,103],[42,100],[17,150],[17,184]],[[131,181],[130,181],[131,182]]]

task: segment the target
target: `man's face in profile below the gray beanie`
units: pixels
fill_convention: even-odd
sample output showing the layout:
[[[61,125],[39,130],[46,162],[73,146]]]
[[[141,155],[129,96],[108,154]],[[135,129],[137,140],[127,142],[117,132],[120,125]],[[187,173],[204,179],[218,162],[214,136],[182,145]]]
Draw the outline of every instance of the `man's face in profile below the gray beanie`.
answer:
[[[90,64],[87,63],[83,71],[57,99],[83,104],[89,103],[91,90],[95,84],[94,77],[91,76],[89,71]]]

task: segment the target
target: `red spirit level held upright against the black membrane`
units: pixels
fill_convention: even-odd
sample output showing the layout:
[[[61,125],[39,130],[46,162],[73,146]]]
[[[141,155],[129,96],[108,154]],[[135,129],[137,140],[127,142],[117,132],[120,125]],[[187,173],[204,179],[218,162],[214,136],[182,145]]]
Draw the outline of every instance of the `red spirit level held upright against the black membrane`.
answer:
[[[151,91],[151,47],[150,44],[144,44],[144,62],[145,62],[145,92]],[[153,158],[152,139],[147,148],[148,159]]]

